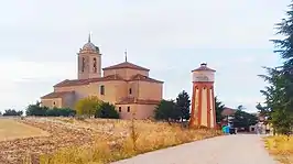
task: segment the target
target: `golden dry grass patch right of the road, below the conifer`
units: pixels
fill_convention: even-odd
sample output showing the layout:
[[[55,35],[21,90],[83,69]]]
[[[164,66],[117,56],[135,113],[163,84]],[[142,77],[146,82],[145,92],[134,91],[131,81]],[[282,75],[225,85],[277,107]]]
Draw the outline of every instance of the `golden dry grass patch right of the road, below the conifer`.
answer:
[[[293,136],[268,136],[264,139],[270,154],[283,164],[293,164]]]

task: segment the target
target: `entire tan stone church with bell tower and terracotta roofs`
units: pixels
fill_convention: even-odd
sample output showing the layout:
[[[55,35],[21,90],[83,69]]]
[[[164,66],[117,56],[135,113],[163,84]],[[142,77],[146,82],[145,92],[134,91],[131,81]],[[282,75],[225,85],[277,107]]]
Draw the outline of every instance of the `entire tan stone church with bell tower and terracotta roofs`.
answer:
[[[162,100],[163,81],[149,77],[150,69],[126,61],[102,68],[98,46],[88,42],[77,55],[77,79],[65,79],[54,91],[41,97],[41,105],[48,108],[72,108],[88,96],[116,106],[121,119],[153,117],[153,110]]]

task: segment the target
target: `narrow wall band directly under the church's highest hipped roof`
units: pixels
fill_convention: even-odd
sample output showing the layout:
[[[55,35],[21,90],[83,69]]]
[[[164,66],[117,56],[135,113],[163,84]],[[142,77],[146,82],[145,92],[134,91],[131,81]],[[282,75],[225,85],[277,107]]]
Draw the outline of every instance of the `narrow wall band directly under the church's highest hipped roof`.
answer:
[[[130,68],[104,70],[104,76],[109,76],[109,75],[115,75],[115,74],[120,75],[124,79],[130,79],[131,76],[137,75],[137,74],[149,76],[149,72],[146,70],[138,70],[138,69],[130,69]]]

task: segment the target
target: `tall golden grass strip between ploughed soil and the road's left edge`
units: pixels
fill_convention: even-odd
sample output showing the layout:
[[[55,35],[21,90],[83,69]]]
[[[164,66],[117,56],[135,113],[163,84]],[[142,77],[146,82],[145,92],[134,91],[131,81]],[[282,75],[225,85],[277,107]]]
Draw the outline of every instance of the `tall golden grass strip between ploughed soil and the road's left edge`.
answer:
[[[204,129],[182,129],[178,124],[169,125],[151,121],[95,120],[89,127],[113,123],[112,133],[106,138],[97,136],[90,146],[66,147],[53,154],[41,156],[41,164],[104,164],[141,153],[178,145],[186,142],[219,135],[220,132]],[[115,129],[115,130],[113,130]],[[123,130],[123,131],[121,131]]]

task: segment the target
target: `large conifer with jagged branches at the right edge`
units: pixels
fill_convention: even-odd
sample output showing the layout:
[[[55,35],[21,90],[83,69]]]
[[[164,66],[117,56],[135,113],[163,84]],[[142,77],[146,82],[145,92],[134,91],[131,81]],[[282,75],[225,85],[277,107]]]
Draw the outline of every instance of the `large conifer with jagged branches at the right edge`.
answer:
[[[267,75],[260,75],[269,85],[261,94],[263,105],[258,103],[260,113],[267,118],[276,133],[290,134],[293,129],[293,3],[289,6],[287,18],[276,24],[276,34],[283,40],[272,40],[274,53],[283,59],[278,67],[264,67]]]

